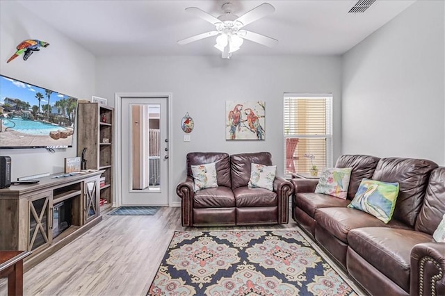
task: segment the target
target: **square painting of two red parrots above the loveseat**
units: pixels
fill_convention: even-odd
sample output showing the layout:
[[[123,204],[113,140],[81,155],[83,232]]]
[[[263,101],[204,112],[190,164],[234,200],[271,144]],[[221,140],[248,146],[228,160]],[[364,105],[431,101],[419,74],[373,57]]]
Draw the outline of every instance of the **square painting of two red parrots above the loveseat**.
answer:
[[[265,140],[264,101],[226,101],[226,140]]]

